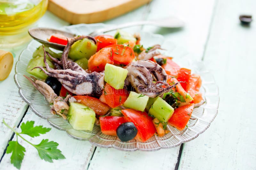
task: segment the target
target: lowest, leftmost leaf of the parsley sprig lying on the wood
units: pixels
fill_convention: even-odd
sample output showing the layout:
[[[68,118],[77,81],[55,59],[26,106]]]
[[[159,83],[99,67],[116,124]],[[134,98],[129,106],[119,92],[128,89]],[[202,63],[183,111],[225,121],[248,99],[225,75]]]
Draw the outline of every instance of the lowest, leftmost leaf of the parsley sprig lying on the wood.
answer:
[[[10,141],[8,143],[6,153],[12,153],[11,163],[18,169],[20,169],[25,152],[25,148],[21,146],[18,141]]]

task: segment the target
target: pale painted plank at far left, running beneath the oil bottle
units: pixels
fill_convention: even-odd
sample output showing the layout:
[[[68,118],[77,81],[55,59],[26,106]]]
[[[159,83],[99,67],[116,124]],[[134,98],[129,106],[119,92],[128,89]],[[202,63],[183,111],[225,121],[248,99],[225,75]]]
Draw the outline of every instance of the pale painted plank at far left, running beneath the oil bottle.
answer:
[[[59,18],[53,16],[52,13],[46,12],[45,15],[38,21],[38,26],[44,27],[60,27],[63,25],[69,25],[67,22],[60,20]],[[4,81],[0,81],[0,103],[1,103],[1,110],[0,110],[0,121],[4,118],[6,123],[10,124],[11,126],[17,126],[20,123],[21,118],[24,115],[24,112],[27,110],[28,105],[21,99],[18,88],[13,79],[14,67],[15,63],[17,62],[20,52],[27,46],[24,44],[19,47],[15,47],[9,49],[14,56],[14,64],[12,67],[12,71],[7,79]],[[3,123],[0,123],[0,155],[2,156],[4,150],[7,146],[8,140],[10,140],[12,136],[12,132],[4,126]]]

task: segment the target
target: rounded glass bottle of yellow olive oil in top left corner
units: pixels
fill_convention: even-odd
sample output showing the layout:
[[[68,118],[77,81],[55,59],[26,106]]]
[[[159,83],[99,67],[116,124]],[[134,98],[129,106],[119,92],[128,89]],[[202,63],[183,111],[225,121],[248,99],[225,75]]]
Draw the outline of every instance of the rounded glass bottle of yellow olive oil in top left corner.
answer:
[[[0,0],[0,48],[28,41],[28,28],[41,18],[48,0]]]

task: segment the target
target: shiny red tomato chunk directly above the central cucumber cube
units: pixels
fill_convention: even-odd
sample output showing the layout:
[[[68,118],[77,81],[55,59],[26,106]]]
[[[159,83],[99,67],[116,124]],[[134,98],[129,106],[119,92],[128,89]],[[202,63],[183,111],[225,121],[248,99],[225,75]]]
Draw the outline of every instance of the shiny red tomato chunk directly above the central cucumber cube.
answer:
[[[111,45],[107,47],[113,48],[113,56],[115,64],[127,65],[135,58],[133,49],[123,44]]]

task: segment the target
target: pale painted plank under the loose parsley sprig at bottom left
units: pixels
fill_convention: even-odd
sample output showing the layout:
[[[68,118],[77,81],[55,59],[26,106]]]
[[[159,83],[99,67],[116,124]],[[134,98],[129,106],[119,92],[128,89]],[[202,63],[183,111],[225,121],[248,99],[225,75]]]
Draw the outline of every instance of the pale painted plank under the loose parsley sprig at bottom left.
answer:
[[[94,152],[94,146],[92,146],[88,141],[76,140],[69,137],[65,131],[53,128],[45,119],[38,117],[32,110],[28,109],[28,112],[22,122],[31,120],[35,121],[34,125],[43,125],[44,127],[52,128],[52,130],[35,138],[31,138],[27,135],[23,135],[23,137],[33,144],[39,144],[42,139],[49,139],[49,141],[53,140],[59,143],[58,149],[62,151],[62,154],[66,159],[54,160],[53,163],[46,162],[38,156],[38,153],[33,146],[18,138],[19,143],[26,148],[25,156],[20,168],[21,170],[45,170],[59,168],[67,170],[82,170],[87,168],[89,161],[91,160],[92,153]],[[18,131],[20,131],[20,128]],[[16,140],[16,137],[14,137],[13,140]],[[10,157],[11,154],[5,154],[0,163],[0,167],[4,167],[5,169],[14,169],[14,166],[10,163]]]

